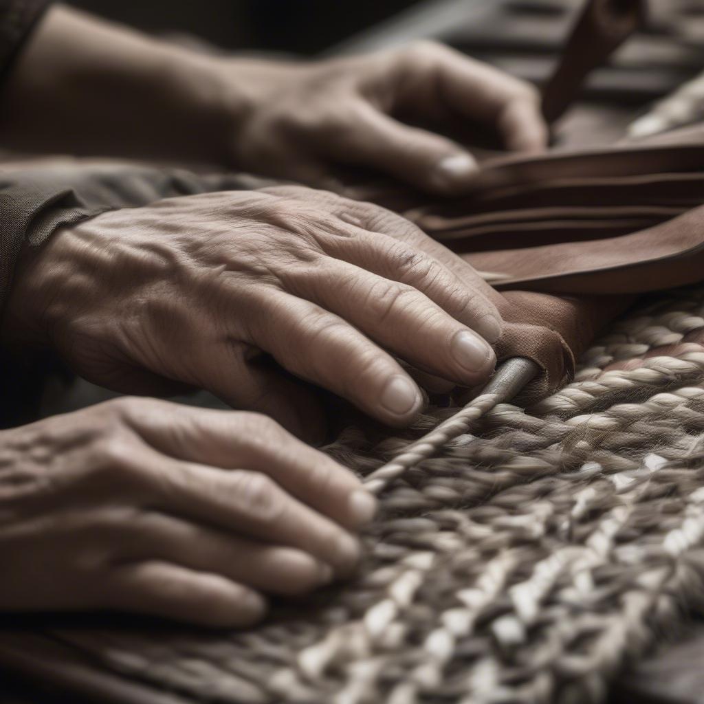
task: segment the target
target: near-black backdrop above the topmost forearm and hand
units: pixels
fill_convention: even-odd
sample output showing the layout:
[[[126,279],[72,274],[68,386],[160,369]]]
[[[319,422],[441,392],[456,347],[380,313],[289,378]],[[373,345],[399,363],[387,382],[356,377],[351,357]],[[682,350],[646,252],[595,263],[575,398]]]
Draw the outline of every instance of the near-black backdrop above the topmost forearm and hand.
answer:
[[[417,0],[70,0],[70,4],[151,32],[196,34],[225,49],[311,55]]]

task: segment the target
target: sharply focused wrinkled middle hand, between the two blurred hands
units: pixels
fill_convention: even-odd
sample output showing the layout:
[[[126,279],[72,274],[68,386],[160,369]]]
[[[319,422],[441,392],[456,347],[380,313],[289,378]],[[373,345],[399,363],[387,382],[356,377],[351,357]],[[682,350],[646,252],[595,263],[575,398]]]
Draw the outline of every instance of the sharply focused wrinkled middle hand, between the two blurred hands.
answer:
[[[501,334],[490,287],[422,243],[439,246],[388,210],[302,187],[167,199],[28,251],[3,333],[54,346],[111,389],[161,394],[175,380],[299,435],[323,419],[298,379],[407,425],[422,398],[393,355],[476,386],[496,360],[485,339]]]

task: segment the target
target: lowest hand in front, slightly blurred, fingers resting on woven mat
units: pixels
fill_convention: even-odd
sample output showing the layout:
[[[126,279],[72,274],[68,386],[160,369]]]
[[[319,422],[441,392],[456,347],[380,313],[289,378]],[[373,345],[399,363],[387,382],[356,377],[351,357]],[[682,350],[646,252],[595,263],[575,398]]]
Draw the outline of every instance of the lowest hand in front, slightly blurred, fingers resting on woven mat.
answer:
[[[263,415],[108,401],[0,432],[0,610],[244,626],[350,572],[374,510]]]

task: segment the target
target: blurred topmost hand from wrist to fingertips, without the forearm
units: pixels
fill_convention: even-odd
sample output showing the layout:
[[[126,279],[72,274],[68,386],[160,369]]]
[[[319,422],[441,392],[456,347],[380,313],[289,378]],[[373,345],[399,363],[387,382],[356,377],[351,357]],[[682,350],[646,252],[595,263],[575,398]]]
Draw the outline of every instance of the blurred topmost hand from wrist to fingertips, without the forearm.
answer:
[[[329,186],[335,165],[371,167],[424,191],[466,190],[477,165],[463,146],[400,120],[496,130],[536,151],[548,130],[536,90],[432,42],[319,63],[218,59],[235,168]],[[227,108],[225,113],[227,113]],[[471,137],[471,132],[470,132]]]

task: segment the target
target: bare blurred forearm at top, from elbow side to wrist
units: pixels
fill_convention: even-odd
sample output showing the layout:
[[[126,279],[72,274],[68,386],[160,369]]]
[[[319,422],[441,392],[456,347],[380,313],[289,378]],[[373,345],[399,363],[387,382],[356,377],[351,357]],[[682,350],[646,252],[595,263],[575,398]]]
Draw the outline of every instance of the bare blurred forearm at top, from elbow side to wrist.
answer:
[[[232,123],[212,61],[54,6],[0,94],[0,134],[23,151],[221,163]]]

